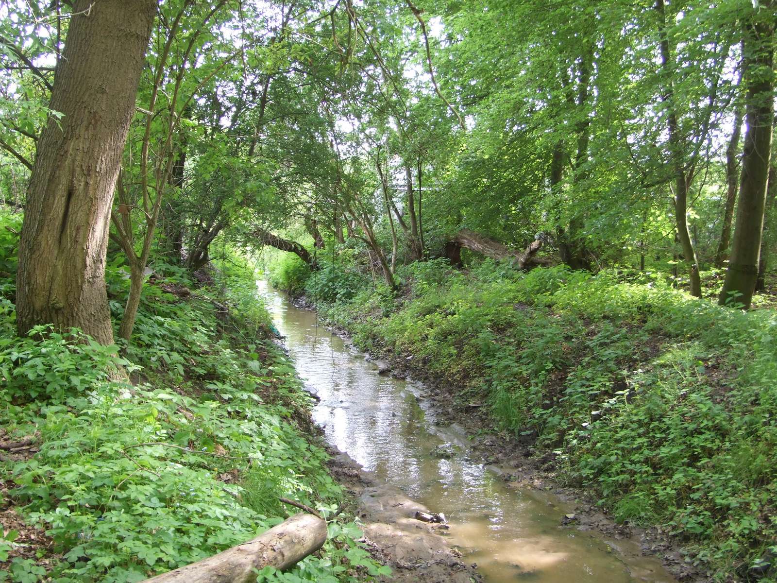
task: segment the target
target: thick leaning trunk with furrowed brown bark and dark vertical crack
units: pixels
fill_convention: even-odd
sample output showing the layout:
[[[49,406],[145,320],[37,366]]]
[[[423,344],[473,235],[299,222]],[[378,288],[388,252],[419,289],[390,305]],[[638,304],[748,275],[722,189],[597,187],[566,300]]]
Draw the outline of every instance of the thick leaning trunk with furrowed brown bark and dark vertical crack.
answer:
[[[154,0],[77,0],[37,145],[19,242],[17,326],[113,342],[105,287],[110,208],[151,36]]]

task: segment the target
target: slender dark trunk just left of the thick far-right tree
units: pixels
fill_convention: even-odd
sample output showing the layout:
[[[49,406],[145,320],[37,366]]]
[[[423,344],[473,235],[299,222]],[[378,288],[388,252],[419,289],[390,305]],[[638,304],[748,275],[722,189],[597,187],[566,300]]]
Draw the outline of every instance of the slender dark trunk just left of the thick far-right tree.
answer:
[[[674,171],[674,221],[677,225],[678,238],[680,239],[683,257],[685,257],[685,261],[690,265],[689,279],[691,284],[691,295],[701,298],[702,280],[699,276],[699,260],[696,257],[696,250],[693,247],[691,234],[688,232],[688,190],[691,187],[691,176],[688,176],[685,172],[685,166],[683,164],[683,146],[679,133],[680,127],[678,124],[677,106],[672,83],[672,75],[674,75],[674,73],[671,67],[671,52],[669,50],[669,39],[667,37],[664,0],[656,0],[656,10],[660,18],[661,68],[666,75],[665,88],[661,100],[667,106],[669,154],[672,170]]]

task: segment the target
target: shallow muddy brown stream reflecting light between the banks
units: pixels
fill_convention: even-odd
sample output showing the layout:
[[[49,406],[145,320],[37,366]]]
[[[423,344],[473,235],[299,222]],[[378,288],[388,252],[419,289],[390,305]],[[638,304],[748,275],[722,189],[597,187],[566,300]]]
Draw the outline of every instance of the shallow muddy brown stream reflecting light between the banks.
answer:
[[[570,507],[552,494],[510,487],[483,466],[455,425],[439,427],[423,386],[378,375],[364,354],[259,282],[301,379],[319,398],[313,417],[330,444],[378,480],[444,512],[449,539],[486,581],[675,583],[635,543],[562,526]]]

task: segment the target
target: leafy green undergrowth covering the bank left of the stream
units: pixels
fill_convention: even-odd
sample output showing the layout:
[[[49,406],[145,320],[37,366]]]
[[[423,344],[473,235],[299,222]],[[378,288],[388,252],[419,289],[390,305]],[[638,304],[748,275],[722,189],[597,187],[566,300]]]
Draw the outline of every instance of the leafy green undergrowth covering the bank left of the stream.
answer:
[[[6,532],[0,581],[141,581],[281,522],[297,511],[281,496],[334,514],[343,492],[313,444],[310,397],[270,340],[253,271],[222,265],[223,297],[186,293],[183,271],[157,265],[120,357],[117,347],[46,326],[36,338],[16,337],[14,261],[0,257],[0,427],[8,441],[35,435],[40,451],[0,463],[0,510],[47,539],[31,546]],[[114,316],[126,297],[123,274],[109,267]],[[134,386],[117,381],[118,370]],[[385,571],[346,517],[329,523],[322,552],[259,581],[355,581]]]

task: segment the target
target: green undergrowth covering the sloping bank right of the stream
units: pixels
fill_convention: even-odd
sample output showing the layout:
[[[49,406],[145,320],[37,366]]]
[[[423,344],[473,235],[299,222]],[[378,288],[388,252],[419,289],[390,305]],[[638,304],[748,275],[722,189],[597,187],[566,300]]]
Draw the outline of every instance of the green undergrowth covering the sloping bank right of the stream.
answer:
[[[552,452],[559,479],[619,521],[671,529],[720,581],[774,580],[775,311],[722,308],[643,274],[403,270],[397,298],[326,271],[307,292],[328,289],[320,309],[364,349],[413,355],[460,400],[486,400],[501,430]]]

